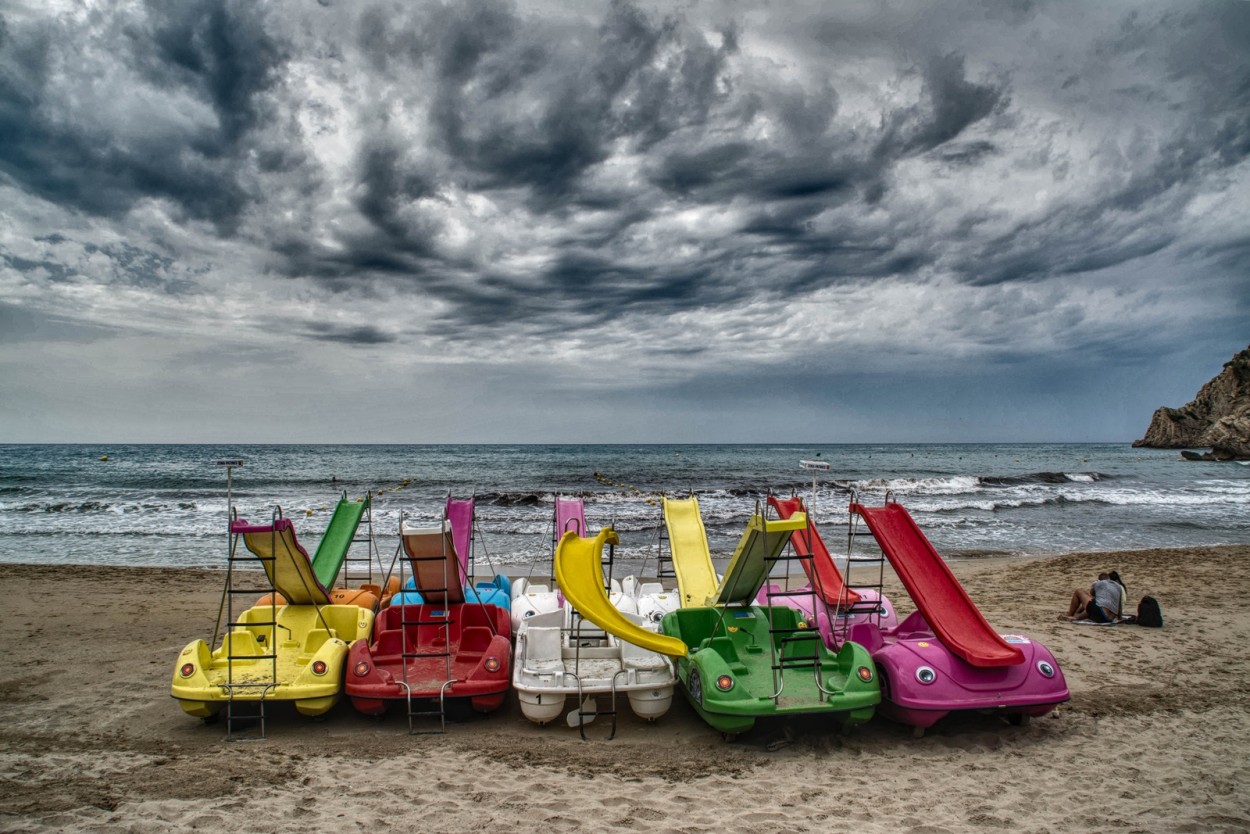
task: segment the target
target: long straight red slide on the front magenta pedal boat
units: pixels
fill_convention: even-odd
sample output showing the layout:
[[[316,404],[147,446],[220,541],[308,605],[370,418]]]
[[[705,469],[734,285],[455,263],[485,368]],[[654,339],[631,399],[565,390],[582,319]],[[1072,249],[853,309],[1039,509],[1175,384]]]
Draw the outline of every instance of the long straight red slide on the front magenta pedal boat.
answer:
[[[1024,663],[1024,653],[990,626],[902,505],[851,504],[851,513],[868,521],[894,573],[942,645],[974,666]]]

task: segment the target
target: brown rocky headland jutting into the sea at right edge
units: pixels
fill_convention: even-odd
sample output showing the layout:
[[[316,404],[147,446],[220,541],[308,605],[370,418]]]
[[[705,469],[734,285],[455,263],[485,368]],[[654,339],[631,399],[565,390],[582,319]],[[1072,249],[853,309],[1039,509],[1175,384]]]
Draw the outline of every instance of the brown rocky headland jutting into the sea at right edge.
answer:
[[[1250,348],[1225,363],[1224,370],[1184,408],[1161,408],[1146,436],[1134,446],[1181,449],[1206,446],[1190,460],[1250,460]]]

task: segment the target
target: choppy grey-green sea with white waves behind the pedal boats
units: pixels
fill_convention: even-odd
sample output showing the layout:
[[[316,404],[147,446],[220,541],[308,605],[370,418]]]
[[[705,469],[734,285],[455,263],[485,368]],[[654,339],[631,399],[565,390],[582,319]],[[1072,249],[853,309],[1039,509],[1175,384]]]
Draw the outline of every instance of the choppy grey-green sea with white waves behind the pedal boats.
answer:
[[[802,495],[851,559],[874,555],[852,496],[899,501],[951,560],[1250,543],[1250,466],[1129,444],[0,445],[0,563],[224,568],[231,511],[281,513],[312,553],[335,503],[369,496],[385,569],[401,519],[472,495],[475,573],[545,575],[560,494],[648,573],[661,495],[698,496],[722,564],[770,491]]]

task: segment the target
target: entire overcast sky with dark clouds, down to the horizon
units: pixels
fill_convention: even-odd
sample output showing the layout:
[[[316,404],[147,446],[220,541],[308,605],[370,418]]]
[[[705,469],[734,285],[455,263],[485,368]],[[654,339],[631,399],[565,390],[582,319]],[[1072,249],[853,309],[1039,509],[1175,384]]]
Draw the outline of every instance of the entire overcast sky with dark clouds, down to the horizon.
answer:
[[[1132,440],[1250,3],[0,4],[0,441]]]

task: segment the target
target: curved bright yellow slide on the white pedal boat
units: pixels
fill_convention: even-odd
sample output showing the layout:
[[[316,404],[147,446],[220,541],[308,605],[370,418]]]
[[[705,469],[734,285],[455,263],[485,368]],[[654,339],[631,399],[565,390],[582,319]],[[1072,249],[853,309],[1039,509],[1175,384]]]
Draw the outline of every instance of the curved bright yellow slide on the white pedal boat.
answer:
[[[685,643],[635,625],[608,600],[602,563],[604,545],[608,543],[620,543],[616,530],[611,528],[604,528],[594,539],[585,539],[572,530],[560,538],[555,550],[555,580],[565,599],[584,618],[621,640],[670,658],[685,656]]]

